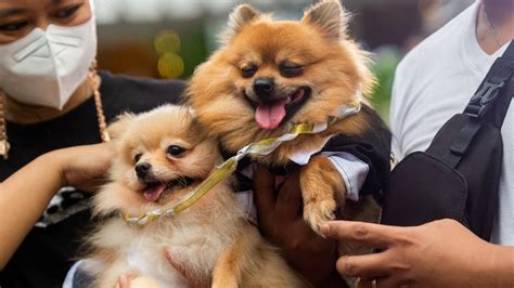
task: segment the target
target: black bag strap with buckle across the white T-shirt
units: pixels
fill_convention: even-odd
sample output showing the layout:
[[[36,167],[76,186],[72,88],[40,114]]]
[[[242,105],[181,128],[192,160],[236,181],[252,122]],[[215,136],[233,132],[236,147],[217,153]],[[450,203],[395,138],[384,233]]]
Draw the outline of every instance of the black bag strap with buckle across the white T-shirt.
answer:
[[[450,149],[442,156],[444,162],[457,168],[484,120],[492,119],[494,126],[501,129],[514,95],[514,81],[511,81],[513,74],[514,41],[511,41],[503,55],[494,61],[465,107],[463,114],[470,119],[453,139]]]

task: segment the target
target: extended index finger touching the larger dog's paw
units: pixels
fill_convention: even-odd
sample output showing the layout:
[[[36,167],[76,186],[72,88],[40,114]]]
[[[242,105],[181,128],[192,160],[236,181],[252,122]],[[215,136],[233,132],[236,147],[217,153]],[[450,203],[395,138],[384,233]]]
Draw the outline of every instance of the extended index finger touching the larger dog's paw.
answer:
[[[373,248],[386,248],[402,231],[401,227],[396,226],[339,220],[323,224],[321,233],[338,240],[359,243]]]

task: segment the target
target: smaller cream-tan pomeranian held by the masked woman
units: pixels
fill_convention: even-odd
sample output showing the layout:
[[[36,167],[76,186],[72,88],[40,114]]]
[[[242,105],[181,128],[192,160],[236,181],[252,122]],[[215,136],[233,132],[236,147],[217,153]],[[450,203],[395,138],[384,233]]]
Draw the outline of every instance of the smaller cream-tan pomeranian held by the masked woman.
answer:
[[[111,182],[93,202],[94,213],[107,220],[88,239],[95,287],[115,287],[119,275],[138,276],[130,287],[306,286],[246,222],[230,179],[172,217],[139,227],[118,217],[172,206],[222,160],[217,141],[188,107],[126,114],[110,132],[116,148]]]

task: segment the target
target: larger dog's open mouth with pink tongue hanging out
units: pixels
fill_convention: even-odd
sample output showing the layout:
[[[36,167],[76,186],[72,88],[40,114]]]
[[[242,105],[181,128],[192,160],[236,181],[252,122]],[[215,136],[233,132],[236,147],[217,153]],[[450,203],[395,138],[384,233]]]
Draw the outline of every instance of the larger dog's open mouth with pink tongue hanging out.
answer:
[[[290,119],[310,96],[309,88],[298,88],[294,93],[272,102],[260,101],[256,106],[255,120],[262,129],[277,129],[284,120]]]

